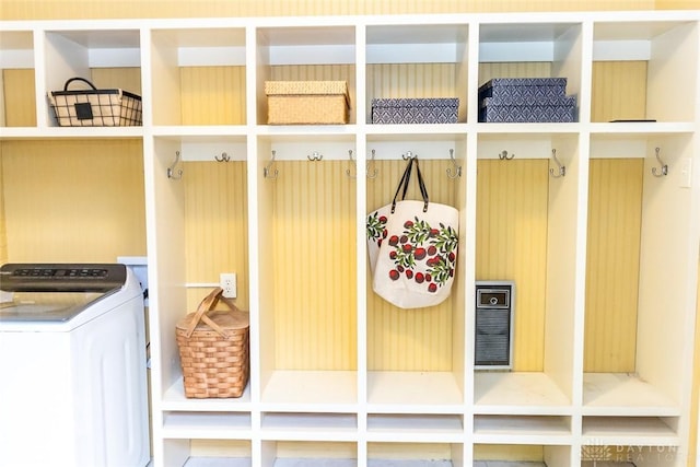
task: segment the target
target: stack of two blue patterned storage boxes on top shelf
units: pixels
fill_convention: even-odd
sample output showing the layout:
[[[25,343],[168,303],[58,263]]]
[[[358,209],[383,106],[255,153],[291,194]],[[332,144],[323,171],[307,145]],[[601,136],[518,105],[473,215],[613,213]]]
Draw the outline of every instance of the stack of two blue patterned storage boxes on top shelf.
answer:
[[[479,87],[479,121],[576,121],[565,78],[494,78]]]

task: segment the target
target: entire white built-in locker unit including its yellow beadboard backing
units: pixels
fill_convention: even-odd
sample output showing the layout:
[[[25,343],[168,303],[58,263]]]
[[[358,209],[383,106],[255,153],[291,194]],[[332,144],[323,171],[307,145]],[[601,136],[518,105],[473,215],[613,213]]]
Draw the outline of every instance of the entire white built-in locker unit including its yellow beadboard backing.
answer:
[[[329,21],[3,23],[0,259],[148,256],[154,465],[687,465],[697,11]],[[71,73],[143,95],[143,126],[56,127],[43,100]],[[576,121],[478,121],[485,82],[552,77]],[[320,80],[347,82],[348,125],[267,124],[265,81]],[[371,122],[374,97],[439,96],[457,124]],[[453,293],[420,310],[372,291],[365,250],[406,156],[459,210]],[[187,399],[175,323],[221,272],[250,381]],[[510,370],[474,369],[476,281],[515,284]]]

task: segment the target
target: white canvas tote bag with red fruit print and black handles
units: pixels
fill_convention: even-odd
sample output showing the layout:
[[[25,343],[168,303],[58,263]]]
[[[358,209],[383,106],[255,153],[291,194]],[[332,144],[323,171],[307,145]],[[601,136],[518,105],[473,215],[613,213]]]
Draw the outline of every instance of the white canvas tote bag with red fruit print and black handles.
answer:
[[[413,168],[422,200],[405,199]],[[368,215],[374,292],[400,308],[443,302],[454,281],[458,222],[457,209],[429,201],[418,159],[411,157],[392,203]]]

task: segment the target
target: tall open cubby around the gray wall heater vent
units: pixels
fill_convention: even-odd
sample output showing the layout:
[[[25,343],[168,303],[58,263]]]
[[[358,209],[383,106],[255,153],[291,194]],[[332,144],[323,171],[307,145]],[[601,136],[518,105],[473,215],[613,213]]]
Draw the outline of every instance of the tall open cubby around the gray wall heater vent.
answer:
[[[513,371],[476,372],[477,411],[558,413],[574,390],[580,140],[481,133],[477,150],[476,279],[517,291]]]

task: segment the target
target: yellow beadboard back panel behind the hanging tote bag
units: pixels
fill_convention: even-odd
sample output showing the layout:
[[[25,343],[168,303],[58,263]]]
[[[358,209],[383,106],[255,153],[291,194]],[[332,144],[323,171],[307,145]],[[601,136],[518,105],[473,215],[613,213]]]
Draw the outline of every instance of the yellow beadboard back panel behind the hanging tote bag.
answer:
[[[377,177],[368,179],[368,212],[392,202],[406,167],[402,160],[376,161]],[[447,161],[420,162],[430,200],[456,206],[457,183],[447,178]],[[413,180],[406,199],[420,199]],[[368,278],[372,275],[368,265]],[[401,310],[384,301],[368,283],[368,369],[370,371],[452,371],[452,297],[436,306]]]

